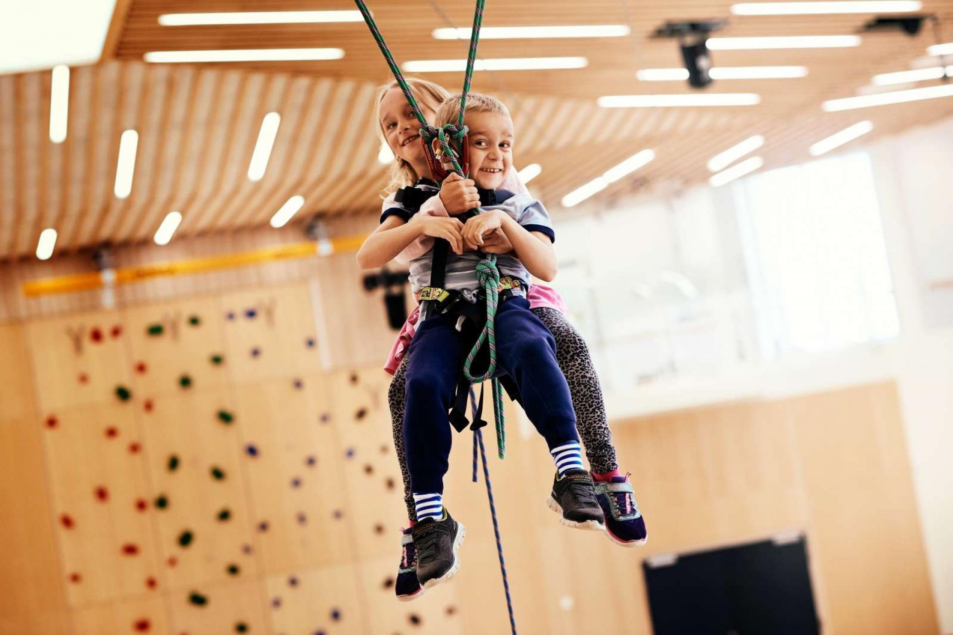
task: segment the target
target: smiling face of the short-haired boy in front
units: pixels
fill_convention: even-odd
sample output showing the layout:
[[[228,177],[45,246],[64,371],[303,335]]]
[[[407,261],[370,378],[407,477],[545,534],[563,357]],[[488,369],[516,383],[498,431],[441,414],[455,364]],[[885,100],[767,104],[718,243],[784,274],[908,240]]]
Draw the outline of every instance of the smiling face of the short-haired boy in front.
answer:
[[[513,166],[513,120],[501,112],[467,112],[470,178],[476,187],[497,189]]]

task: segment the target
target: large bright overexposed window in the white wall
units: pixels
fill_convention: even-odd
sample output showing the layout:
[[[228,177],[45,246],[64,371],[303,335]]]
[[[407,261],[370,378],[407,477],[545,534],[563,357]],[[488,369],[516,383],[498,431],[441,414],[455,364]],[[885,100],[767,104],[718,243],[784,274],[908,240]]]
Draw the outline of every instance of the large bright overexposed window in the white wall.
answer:
[[[766,171],[734,194],[764,358],[897,336],[865,152]]]

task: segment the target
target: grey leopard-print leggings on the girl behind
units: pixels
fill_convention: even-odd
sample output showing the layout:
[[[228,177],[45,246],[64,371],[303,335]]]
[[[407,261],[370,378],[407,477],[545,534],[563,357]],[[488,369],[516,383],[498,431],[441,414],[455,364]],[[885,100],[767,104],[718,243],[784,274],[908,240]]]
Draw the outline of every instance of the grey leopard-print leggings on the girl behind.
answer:
[[[589,355],[589,347],[566,319],[555,308],[533,308],[539,321],[553,333],[556,340],[556,361],[566,376],[569,393],[576,410],[579,437],[586,450],[589,466],[595,472],[608,472],[618,468],[616,447],[612,444],[612,432],[606,421],[605,405],[602,403],[602,389],[599,387],[596,368]],[[394,426],[394,447],[400,474],[404,479],[404,502],[411,520],[416,519],[414,496],[411,493],[411,474],[407,470],[407,457],[404,454],[404,385],[409,357],[404,359],[394,373],[387,397],[391,406],[391,421]]]

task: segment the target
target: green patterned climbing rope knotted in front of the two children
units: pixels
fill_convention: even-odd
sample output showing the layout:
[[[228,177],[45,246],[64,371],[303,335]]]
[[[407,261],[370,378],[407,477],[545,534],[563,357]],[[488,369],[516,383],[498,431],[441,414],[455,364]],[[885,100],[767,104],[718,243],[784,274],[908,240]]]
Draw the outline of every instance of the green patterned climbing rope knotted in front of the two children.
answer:
[[[404,79],[403,73],[400,72],[400,67],[397,66],[394,55],[391,54],[387,42],[384,41],[383,34],[377,29],[374,17],[371,15],[371,10],[368,9],[364,0],[355,0],[355,4],[357,5],[357,9],[360,10],[361,15],[364,16],[364,22],[367,23],[371,34],[374,35],[377,47],[380,49],[380,52],[383,53],[384,59],[387,60],[387,65],[391,68],[391,72],[394,73],[397,86],[400,87],[400,90],[404,93],[404,97],[407,98],[407,103],[410,104],[411,109],[414,111],[414,116],[420,124],[420,137],[426,144],[426,150],[428,152],[432,151],[431,145],[433,140],[436,139],[440,144],[440,148],[443,150],[443,156],[450,160],[454,171],[460,176],[468,178],[469,175],[464,173],[460,167],[459,155],[450,142],[454,141],[456,144],[462,145],[463,137],[467,133],[467,127],[463,125],[463,112],[466,109],[467,93],[470,92],[474,68],[476,67],[476,47],[479,43],[479,30],[483,25],[483,9],[486,5],[486,0],[476,0],[474,26],[470,33],[470,50],[467,54],[467,69],[463,76],[463,90],[460,92],[460,110],[456,118],[456,126],[448,124],[442,128],[436,128],[427,123],[426,117],[423,116],[423,111],[416,103],[414,93],[407,84],[407,80]],[[476,208],[476,213],[482,213],[482,211],[482,208]],[[497,268],[496,254],[483,254],[483,258],[476,264],[476,277],[486,293],[486,324],[476,338],[476,344],[474,344],[474,347],[467,353],[467,359],[463,365],[463,373],[471,384],[479,384],[488,379],[492,379],[493,375],[497,372],[497,334],[495,324],[499,304],[499,269]],[[480,348],[483,347],[484,343],[490,347],[490,365],[487,367],[486,372],[480,375],[474,375],[471,368],[476,359],[476,354]],[[497,424],[497,455],[502,459],[506,457],[506,427],[503,414],[503,390],[496,379],[493,379],[493,411],[494,419]]]

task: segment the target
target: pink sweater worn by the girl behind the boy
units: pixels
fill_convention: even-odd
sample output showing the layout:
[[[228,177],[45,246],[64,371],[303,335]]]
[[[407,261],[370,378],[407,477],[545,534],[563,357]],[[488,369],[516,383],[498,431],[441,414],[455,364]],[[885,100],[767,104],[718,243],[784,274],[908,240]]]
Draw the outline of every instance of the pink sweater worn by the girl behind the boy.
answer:
[[[501,188],[509,189],[510,191],[526,191],[526,186],[523,185],[522,181],[519,180],[519,177],[517,177],[512,170],[509,174],[507,174]],[[384,201],[381,211],[392,207],[393,204],[394,194],[391,194],[387,200]],[[440,200],[439,196],[432,196],[427,199],[427,201],[420,206],[420,211],[417,213],[430,214],[431,216],[450,215],[447,212],[447,208],[443,207],[443,202]],[[405,247],[404,250],[397,255],[395,260],[403,264],[409,263],[413,259],[427,253],[433,247],[433,237],[420,236],[413,243]],[[526,293],[526,299],[530,302],[530,308],[555,308],[563,315],[568,313],[566,303],[563,302],[562,297],[558,294],[558,291],[555,288],[549,287],[548,285],[533,283]],[[411,311],[411,314],[407,317],[407,322],[404,323],[404,326],[397,334],[394,347],[391,348],[391,354],[388,355],[387,362],[384,364],[384,370],[391,373],[392,375],[396,372],[397,367],[400,366],[400,362],[403,359],[404,354],[407,352],[407,347],[411,345],[411,340],[414,339],[414,333],[416,333],[416,323],[419,316],[420,308],[417,307]]]

